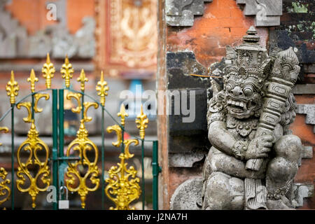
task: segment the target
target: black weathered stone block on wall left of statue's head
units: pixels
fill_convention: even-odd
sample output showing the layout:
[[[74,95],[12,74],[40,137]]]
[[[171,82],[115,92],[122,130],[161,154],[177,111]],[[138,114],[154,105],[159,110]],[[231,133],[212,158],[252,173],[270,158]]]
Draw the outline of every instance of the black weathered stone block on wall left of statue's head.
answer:
[[[209,78],[190,76],[190,74],[207,74],[207,69],[199,64],[191,51],[167,52],[167,88],[169,90],[169,153],[191,152],[194,148],[209,147],[207,140],[207,99],[212,97]],[[185,103],[187,92],[187,109],[190,103],[190,92],[195,92],[195,119],[191,123],[184,123],[181,110]],[[172,97],[171,97],[172,96]],[[181,97],[181,98],[180,98]],[[180,99],[180,101],[178,101]],[[178,106],[179,105],[179,106]],[[180,109],[175,113],[174,108]],[[186,106],[184,105],[184,108]]]

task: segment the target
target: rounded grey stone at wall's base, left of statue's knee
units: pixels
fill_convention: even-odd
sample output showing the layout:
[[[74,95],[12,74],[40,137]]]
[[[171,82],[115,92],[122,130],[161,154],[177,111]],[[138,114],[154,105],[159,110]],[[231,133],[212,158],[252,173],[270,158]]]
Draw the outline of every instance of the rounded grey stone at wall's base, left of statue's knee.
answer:
[[[171,210],[200,210],[202,178],[188,179],[177,188],[170,202]]]

